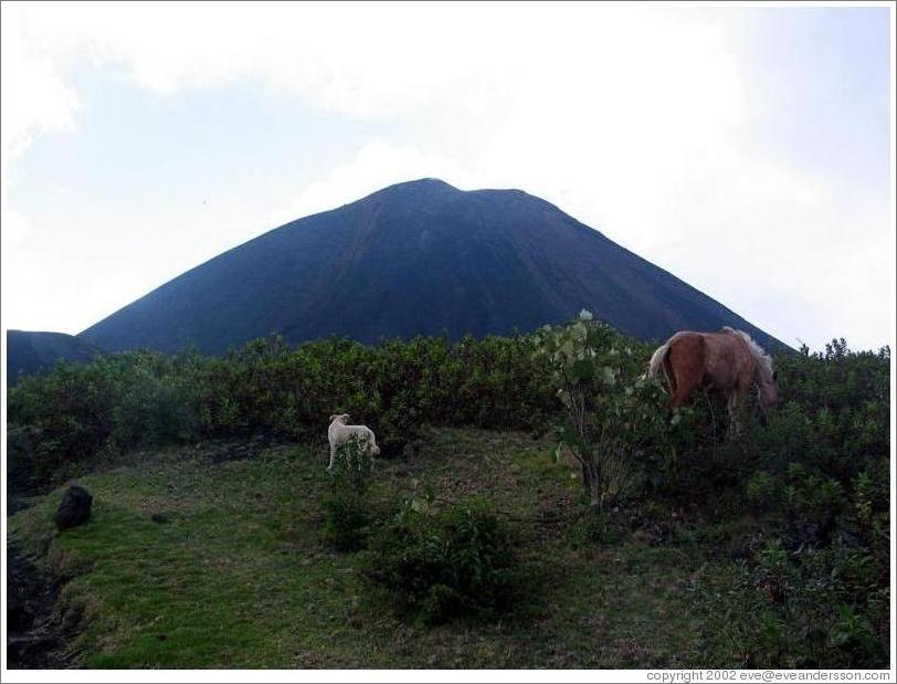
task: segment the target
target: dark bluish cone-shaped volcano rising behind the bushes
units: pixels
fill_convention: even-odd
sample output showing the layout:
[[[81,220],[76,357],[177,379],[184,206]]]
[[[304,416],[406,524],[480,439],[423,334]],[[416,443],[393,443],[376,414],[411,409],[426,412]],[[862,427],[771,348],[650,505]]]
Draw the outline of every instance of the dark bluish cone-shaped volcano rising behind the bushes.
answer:
[[[581,308],[634,336],[732,325],[770,338],[680,280],[519,190],[392,186],[273,230],[166,283],[81,337],[106,350],[207,352],[282,333],[504,334]]]

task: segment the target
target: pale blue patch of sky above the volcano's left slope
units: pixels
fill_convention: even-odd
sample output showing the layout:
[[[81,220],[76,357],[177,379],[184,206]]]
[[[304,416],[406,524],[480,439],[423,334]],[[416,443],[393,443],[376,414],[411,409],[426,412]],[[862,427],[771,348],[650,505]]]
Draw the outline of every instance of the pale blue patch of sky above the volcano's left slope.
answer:
[[[67,81],[78,93],[77,130],[41,136],[17,160],[11,207],[39,225],[74,221],[55,233],[70,250],[113,242],[139,261],[160,241],[180,251],[189,219],[204,238],[186,241],[193,253],[175,260],[171,275],[272,228],[260,208],[292,197],[384,129],[309,108],[255,80],[158,95],[81,64]],[[223,222],[218,198],[232,214]]]

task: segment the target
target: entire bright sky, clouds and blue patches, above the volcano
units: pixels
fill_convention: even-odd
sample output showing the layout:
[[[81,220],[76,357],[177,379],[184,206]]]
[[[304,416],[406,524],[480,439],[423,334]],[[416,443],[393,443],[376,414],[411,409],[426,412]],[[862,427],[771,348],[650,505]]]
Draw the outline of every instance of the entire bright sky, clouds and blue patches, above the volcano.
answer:
[[[2,6],[2,323],[394,182],[547,199],[792,346],[893,346],[887,7]]]

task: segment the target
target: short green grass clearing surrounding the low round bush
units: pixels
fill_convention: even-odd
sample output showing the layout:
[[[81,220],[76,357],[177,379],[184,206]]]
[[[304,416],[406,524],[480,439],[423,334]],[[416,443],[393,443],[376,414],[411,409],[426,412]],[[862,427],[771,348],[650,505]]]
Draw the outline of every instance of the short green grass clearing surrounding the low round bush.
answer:
[[[488,497],[521,530],[541,578],[534,606],[492,623],[404,624],[370,597],[359,556],[320,540],[326,445],[273,446],[214,463],[202,449],[147,455],[78,480],[85,526],[56,533],[59,490],[10,518],[39,562],[70,578],[88,667],[707,667],[743,663],[719,597],[725,557],[698,535],[624,528],[594,541],[563,522],[581,485],[552,445],[521,433],[432,430],[420,453],[381,461],[387,514],[414,486],[436,504]],[[622,513],[620,514],[622,515]],[[686,523],[680,525],[687,532]],[[725,601],[725,599],[724,599]],[[725,607],[724,607],[725,608]]]

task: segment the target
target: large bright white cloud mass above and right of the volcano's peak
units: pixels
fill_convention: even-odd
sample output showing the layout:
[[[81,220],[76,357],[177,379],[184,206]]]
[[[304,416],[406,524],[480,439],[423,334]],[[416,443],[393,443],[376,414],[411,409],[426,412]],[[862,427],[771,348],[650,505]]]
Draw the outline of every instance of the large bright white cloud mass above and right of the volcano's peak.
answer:
[[[9,139],[21,150],[35,131],[71,128],[77,99],[57,67],[72,55],[124,66],[162,95],[261,77],[313,106],[391,122],[400,133],[380,134],[320,169],[284,210],[260,217],[260,231],[266,218],[285,222],[423,176],[462,188],[518,187],[788,341],[803,336],[819,346],[833,323],[863,345],[887,335],[874,302],[893,273],[890,259],[880,257],[887,215],[858,215],[849,191],[752,151],[745,117],[752,94],[719,11],[366,2],[8,8],[4,160]],[[14,107],[11,135],[7,103]],[[6,185],[4,172],[4,198]]]

